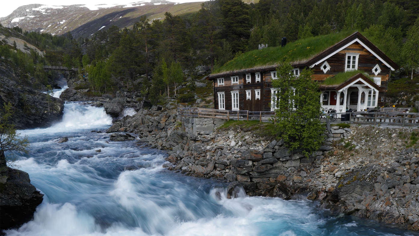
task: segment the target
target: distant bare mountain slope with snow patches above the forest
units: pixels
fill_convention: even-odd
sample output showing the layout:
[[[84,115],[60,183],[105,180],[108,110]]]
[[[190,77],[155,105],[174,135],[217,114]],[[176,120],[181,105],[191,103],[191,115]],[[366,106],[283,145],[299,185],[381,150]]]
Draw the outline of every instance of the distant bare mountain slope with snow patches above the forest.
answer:
[[[202,2],[173,3],[166,0],[118,3],[111,5],[52,6],[41,4],[23,5],[9,16],[0,18],[8,28],[19,26],[26,31],[65,34],[87,37],[100,29],[116,25],[119,28],[132,26],[141,16],[150,20],[164,17],[165,12],[174,15],[199,10]]]

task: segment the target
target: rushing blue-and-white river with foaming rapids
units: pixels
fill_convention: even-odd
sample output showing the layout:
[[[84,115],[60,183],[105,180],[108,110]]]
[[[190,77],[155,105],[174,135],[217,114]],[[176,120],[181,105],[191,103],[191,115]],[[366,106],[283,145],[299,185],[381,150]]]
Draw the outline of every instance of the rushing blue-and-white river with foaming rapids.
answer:
[[[21,130],[16,164],[45,196],[34,219],[8,236],[408,236],[411,231],[332,216],[317,202],[225,197],[225,182],[162,168],[163,151],[111,142],[103,108],[65,104],[61,122]],[[93,132],[92,132],[93,131]],[[57,143],[69,137],[66,143]],[[98,150],[101,150],[98,152]],[[221,199],[215,197],[220,191]]]

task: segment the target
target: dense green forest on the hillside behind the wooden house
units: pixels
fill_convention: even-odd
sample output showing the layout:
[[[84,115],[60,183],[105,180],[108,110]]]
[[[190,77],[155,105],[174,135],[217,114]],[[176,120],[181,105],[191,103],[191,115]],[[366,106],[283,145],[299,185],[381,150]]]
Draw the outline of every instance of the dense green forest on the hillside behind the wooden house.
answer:
[[[25,40],[45,51],[45,57],[6,50],[1,60],[23,67],[23,77],[48,83],[42,65],[64,65],[87,76],[91,94],[116,93],[122,88],[140,91],[153,104],[173,96],[179,84],[195,74],[195,67],[215,70],[243,52],[342,31],[360,31],[401,70],[419,67],[419,6],[407,0],[212,0],[195,13],[150,21],[146,16],[132,28],[97,31],[88,38],[22,32]]]

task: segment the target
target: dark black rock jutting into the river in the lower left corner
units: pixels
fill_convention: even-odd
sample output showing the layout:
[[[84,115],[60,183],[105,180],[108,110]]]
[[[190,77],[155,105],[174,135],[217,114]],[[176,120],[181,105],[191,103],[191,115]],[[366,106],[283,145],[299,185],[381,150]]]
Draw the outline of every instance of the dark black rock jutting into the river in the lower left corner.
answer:
[[[0,230],[16,228],[31,220],[43,196],[31,184],[28,173],[6,166],[0,150]]]

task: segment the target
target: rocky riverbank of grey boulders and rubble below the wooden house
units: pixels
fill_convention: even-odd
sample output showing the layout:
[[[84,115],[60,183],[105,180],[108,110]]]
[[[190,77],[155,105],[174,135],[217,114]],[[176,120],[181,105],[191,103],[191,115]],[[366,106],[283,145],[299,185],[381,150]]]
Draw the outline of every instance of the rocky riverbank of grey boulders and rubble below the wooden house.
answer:
[[[224,121],[178,117],[174,108],[142,110],[107,132],[135,133],[139,143],[168,150],[168,169],[224,178],[232,191],[241,185],[251,196],[305,196],[336,213],[419,229],[419,149],[406,149],[411,129],[332,126],[306,158],[282,140],[240,126],[218,130]]]

